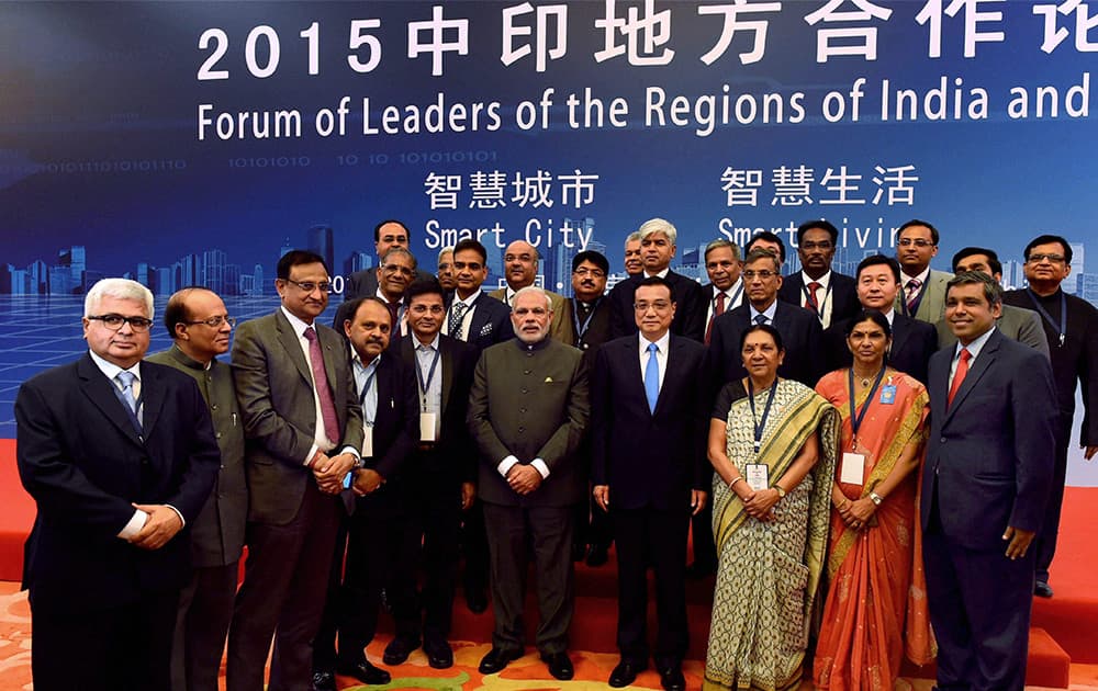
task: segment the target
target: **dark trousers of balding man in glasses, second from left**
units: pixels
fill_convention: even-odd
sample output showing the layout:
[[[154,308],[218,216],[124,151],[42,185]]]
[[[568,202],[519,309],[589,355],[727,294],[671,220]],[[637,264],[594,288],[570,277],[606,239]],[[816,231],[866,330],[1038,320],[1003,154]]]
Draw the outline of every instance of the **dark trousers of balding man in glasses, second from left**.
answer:
[[[179,593],[171,691],[217,691],[238,568],[239,562],[195,568],[191,582]]]

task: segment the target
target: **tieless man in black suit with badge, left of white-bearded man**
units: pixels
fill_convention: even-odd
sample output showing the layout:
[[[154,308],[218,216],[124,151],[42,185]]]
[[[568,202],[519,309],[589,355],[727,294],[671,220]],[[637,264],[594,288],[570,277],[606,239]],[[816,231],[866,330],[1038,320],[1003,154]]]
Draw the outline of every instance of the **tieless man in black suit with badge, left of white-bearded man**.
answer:
[[[436,669],[453,665],[447,643],[457,582],[461,511],[477,492],[477,466],[466,426],[477,349],[439,331],[446,317],[442,287],[416,281],[404,293],[411,333],[396,352],[416,373],[419,449],[408,461],[402,505],[407,507],[396,563],[388,588],[396,636],[385,648],[386,665],[400,665],[419,647]],[[423,564],[423,592],[416,592]]]

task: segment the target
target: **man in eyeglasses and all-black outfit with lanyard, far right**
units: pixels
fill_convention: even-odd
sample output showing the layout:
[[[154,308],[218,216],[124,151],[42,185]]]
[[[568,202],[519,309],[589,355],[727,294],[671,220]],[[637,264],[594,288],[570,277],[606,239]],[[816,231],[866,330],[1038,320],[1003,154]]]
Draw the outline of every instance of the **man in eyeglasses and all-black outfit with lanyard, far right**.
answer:
[[[1026,246],[1026,280],[1029,287],[1008,291],[1004,304],[1035,309],[1049,338],[1053,382],[1060,401],[1056,457],[1052,491],[1041,532],[1037,536],[1037,586],[1033,593],[1052,597],[1049,567],[1056,551],[1060,511],[1064,503],[1067,448],[1075,419],[1075,383],[1083,387],[1083,428],[1079,445],[1087,461],[1098,453],[1098,310],[1090,303],[1067,295],[1063,282],[1072,274],[1072,246],[1057,235],[1042,235]]]

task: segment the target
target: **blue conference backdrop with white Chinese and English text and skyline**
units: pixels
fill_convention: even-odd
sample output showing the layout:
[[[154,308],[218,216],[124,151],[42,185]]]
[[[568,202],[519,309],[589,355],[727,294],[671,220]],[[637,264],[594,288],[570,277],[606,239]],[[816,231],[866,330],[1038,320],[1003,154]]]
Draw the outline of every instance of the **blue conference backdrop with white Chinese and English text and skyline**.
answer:
[[[1087,263],[1098,4],[1078,0],[5,3],[0,10],[0,437],[27,376],[83,349],[82,294],[208,285],[242,318],[274,265],[376,265],[403,220],[422,265],[525,238],[539,281],[648,218],[673,264],[760,230],[840,229],[836,268],[895,228],[970,245],[1072,240]],[[1098,251],[1098,247],[1095,248]],[[799,268],[794,252],[785,270]],[[168,343],[157,327],[154,348]],[[1082,462],[1073,461],[1074,466]],[[1073,469],[1073,472],[1075,472]],[[1085,469],[1079,471],[1079,473]],[[1098,479],[1096,479],[1098,484]]]

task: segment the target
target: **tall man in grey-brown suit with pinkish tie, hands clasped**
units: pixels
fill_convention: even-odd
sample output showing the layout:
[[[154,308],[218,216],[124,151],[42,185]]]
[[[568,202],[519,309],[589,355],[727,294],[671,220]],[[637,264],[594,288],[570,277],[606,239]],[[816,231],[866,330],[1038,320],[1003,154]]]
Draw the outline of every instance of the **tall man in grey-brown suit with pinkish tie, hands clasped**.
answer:
[[[270,691],[312,682],[312,641],[344,511],[338,495],[361,463],[363,439],[347,347],[316,324],[329,285],[318,254],[285,253],[274,281],[282,306],[240,325],[233,344],[250,505],[228,636],[231,691],[262,690],[272,635]]]

